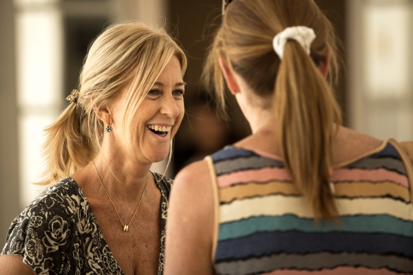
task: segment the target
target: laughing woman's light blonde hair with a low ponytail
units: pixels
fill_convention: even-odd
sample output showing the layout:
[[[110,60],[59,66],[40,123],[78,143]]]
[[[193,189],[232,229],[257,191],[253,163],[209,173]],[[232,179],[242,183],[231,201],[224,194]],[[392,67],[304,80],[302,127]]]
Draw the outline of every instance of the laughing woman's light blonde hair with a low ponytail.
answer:
[[[103,31],[89,48],[79,78],[79,96],[45,129],[47,176],[50,184],[80,170],[94,158],[103,140],[104,125],[97,110],[107,107],[125,87],[123,135],[131,150],[129,125],[140,103],[172,56],[180,62],[182,76],[187,58],[162,28],[140,22],[116,23]]]

